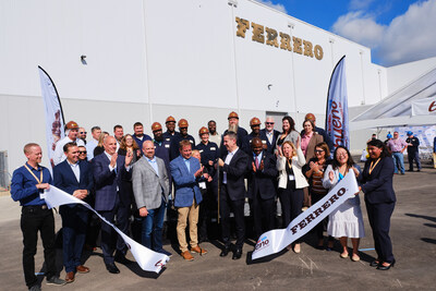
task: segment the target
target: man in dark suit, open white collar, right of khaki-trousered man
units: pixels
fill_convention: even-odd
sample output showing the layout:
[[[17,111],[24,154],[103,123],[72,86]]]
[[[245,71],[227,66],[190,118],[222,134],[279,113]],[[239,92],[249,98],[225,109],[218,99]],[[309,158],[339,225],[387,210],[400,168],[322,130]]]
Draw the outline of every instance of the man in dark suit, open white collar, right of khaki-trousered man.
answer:
[[[223,160],[218,160],[220,170],[222,170],[220,174],[219,215],[221,217],[222,242],[225,243],[220,256],[227,256],[230,251],[230,210],[232,209],[237,225],[237,245],[232,256],[233,259],[241,258],[245,239],[244,177],[249,165],[249,156],[238,147],[237,138],[234,132],[225,133],[222,140],[227,154]]]

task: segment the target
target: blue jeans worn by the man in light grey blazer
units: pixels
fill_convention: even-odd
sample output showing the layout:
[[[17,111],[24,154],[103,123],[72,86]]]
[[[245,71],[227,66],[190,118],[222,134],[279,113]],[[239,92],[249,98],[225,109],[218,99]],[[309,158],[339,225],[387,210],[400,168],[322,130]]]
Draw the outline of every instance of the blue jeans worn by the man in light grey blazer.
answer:
[[[162,203],[159,208],[147,209],[148,215],[143,217],[143,228],[141,232],[141,243],[150,250],[160,251],[162,250],[162,228],[164,217],[167,204],[162,198]],[[152,244],[153,237],[153,244]]]

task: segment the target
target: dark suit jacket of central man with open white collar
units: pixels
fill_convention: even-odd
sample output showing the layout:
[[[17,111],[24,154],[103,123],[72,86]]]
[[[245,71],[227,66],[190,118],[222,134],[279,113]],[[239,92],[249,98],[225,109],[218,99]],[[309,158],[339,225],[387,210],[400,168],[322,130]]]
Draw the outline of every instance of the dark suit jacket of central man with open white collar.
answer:
[[[222,160],[226,160],[227,155]],[[246,195],[245,191],[245,182],[244,178],[247,171],[247,167],[250,163],[249,156],[239,148],[231,159],[230,163],[225,163],[223,167],[220,168],[221,171],[227,172],[227,193],[229,194],[230,199],[238,201],[244,199]],[[220,173],[220,182],[222,183],[223,174]]]

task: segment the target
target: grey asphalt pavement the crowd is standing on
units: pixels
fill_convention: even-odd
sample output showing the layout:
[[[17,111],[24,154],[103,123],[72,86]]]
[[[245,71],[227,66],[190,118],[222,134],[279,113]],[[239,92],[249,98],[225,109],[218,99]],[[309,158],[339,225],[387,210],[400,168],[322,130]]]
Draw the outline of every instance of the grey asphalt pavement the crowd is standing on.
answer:
[[[45,290],[436,290],[436,170],[426,168],[422,172],[407,172],[395,177],[398,203],[391,220],[391,239],[397,257],[395,268],[379,271],[368,266],[374,251],[363,251],[362,260],[354,263],[339,258],[336,251],[314,248],[313,238],[305,239],[302,253],[282,253],[263,263],[253,263],[245,244],[244,259],[233,262],[229,255],[219,257],[220,250],[211,243],[202,246],[209,253],[195,256],[194,262],[174,255],[160,275],[142,271],[135,263],[128,266],[118,264],[121,274],[107,272],[102,264],[101,250],[90,254],[86,266],[89,274],[77,275],[74,283],[57,288],[46,286]],[[362,204],[364,207],[364,203]],[[25,290],[21,265],[22,234],[20,231],[20,206],[8,196],[0,197],[0,290]],[[364,214],[366,210],[363,211]],[[57,229],[61,221],[56,215]],[[371,229],[366,216],[366,238],[361,248],[373,248]],[[39,244],[36,266],[43,266]],[[58,250],[61,265],[61,250]],[[129,257],[133,260],[131,254]],[[60,266],[61,267],[61,266]],[[61,278],[64,277],[61,272]]]

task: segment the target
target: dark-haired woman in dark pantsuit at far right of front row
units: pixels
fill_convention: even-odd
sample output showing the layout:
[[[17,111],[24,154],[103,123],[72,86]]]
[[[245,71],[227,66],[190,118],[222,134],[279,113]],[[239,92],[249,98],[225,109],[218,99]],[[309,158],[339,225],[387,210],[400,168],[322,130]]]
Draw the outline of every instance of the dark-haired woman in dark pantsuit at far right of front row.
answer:
[[[365,194],[366,211],[377,253],[377,258],[370,266],[388,270],[396,262],[389,237],[390,216],[397,201],[392,186],[393,162],[382,141],[370,141],[367,148],[370,158],[365,162],[359,189]]]

